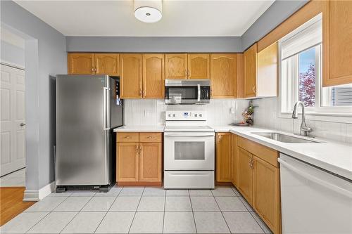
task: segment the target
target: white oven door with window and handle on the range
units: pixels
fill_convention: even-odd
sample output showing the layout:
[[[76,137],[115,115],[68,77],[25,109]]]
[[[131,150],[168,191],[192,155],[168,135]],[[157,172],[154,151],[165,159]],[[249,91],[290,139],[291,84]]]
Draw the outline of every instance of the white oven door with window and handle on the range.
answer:
[[[215,133],[167,132],[164,134],[165,170],[214,170]]]

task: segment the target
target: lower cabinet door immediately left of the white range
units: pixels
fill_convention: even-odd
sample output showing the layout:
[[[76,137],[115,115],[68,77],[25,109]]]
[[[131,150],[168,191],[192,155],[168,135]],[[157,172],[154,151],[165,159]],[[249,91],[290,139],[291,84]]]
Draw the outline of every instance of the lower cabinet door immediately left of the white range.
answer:
[[[139,181],[161,182],[161,143],[139,143]]]

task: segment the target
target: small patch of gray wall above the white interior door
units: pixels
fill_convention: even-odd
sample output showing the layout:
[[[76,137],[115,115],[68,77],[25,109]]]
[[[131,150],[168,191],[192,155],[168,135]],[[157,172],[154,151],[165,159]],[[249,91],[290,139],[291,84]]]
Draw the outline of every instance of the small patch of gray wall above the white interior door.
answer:
[[[1,61],[25,67],[25,50],[6,41],[0,41]]]

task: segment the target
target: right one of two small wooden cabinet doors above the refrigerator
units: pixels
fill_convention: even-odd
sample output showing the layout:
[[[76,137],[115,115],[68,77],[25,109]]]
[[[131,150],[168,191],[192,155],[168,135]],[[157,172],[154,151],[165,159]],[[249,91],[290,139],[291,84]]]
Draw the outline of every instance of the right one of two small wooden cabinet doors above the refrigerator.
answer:
[[[120,55],[118,53],[96,53],[95,74],[120,76]]]

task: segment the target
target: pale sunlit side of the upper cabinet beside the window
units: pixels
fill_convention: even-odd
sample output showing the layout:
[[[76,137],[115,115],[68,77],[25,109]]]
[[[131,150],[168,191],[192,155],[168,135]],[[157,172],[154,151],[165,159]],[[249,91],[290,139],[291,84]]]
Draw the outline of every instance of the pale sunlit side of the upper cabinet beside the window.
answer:
[[[257,58],[257,97],[277,96],[277,67],[278,67],[278,44],[271,46],[258,53]]]

